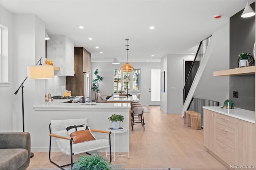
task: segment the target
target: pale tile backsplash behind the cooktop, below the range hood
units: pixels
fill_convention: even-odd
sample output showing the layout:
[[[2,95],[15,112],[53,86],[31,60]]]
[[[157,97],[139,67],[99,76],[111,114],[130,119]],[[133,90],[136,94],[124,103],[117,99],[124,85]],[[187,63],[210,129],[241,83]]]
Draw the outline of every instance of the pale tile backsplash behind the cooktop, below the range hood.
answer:
[[[66,76],[54,76],[54,78],[46,79],[45,86],[47,93],[51,96],[63,96],[66,90]]]

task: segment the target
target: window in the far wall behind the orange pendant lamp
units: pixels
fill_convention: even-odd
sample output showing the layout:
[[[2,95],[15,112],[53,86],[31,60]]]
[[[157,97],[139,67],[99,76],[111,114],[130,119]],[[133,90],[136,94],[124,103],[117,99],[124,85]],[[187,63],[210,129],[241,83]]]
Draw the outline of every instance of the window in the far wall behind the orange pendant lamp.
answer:
[[[121,90],[122,86],[128,86],[128,90],[140,90],[140,69],[133,69],[132,72],[123,72],[121,69],[114,69],[113,90]]]

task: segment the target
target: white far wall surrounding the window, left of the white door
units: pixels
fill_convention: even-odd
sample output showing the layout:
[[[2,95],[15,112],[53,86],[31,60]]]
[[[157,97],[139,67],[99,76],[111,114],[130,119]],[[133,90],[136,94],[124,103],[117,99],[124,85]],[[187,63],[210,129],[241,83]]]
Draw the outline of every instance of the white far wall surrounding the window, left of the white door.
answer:
[[[113,69],[120,68],[125,63],[120,64],[112,64],[106,62],[92,62],[92,79],[95,78],[93,74],[94,70],[98,68],[99,73],[98,75],[104,77],[103,82],[100,82],[100,94],[112,94],[113,89]],[[140,68],[140,91],[138,92],[131,92],[129,94],[138,94],[141,93],[140,96],[140,103],[142,105],[148,105],[148,67],[150,66],[160,66],[160,63],[129,63],[134,68]],[[94,99],[94,92],[92,92],[92,99]]]

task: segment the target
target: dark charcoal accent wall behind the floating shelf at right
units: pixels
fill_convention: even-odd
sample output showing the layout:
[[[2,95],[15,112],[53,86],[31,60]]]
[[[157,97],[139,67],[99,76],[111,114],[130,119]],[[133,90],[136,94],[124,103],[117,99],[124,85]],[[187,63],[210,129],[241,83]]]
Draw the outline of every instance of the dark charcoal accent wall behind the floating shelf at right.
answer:
[[[251,4],[255,10],[255,2]],[[255,16],[242,18],[243,10],[230,17],[230,69],[238,68],[238,54],[251,52],[255,42]],[[255,65],[255,63],[253,64]],[[238,91],[238,98],[233,98]],[[255,75],[230,76],[229,98],[235,107],[255,110]]]

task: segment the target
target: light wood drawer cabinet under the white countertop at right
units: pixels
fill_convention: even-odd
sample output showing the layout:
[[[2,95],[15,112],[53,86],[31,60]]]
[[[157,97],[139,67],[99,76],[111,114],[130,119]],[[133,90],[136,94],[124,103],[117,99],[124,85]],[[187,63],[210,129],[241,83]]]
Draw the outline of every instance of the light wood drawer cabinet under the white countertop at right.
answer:
[[[256,167],[255,124],[204,109],[204,147],[230,165]]]

